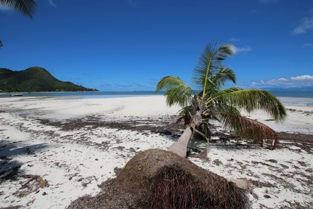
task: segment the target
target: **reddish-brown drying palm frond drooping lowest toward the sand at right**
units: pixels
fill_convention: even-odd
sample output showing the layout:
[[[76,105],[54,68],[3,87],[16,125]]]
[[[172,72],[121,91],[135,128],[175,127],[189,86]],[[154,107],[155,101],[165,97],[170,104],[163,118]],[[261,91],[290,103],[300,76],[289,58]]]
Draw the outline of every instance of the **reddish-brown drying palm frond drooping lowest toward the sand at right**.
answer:
[[[253,143],[259,143],[262,140],[267,140],[268,144],[273,148],[278,144],[278,137],[275,131],[260,123],[247,117],[231,114],[228,112],[216,112],[219,113],[223,119],[223,127],[227,130],[233,130],[234,134],[242,138],[251,140]]]

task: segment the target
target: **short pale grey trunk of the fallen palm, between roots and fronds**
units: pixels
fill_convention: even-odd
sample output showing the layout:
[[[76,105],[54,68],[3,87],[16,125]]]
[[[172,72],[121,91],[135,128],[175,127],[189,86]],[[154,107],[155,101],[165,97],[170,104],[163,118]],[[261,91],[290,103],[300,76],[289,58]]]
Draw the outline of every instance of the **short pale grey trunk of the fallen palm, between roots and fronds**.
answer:
[[[202,119],[200,112],[195,114],[190,125],[185,129],[184,133],[179,137],[177,141],[175,141],[167,151],[173,152],[181,157],[186,157],[187,153],[187,145],[189,139],[192,137],[194,133],[194,129],[197,124],[199,124],[200,120]]]

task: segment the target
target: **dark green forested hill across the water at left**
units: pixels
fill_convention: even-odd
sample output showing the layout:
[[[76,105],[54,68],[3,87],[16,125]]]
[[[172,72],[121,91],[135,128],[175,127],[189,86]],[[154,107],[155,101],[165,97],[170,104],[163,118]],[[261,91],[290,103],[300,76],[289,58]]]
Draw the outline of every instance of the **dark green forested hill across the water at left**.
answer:
[[[22,71],[0,68],[0,93],[4,92],[95,92],[54,78],[46,69],[31,67]]]

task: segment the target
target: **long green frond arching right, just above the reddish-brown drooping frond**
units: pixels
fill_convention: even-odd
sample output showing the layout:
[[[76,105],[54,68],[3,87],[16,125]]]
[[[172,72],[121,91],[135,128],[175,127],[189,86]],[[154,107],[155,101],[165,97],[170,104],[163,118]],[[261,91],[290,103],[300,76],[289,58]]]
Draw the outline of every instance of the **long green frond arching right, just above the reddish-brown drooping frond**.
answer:
[[[276,122],[283,122],[287,117],[284,104],[268,91],[240,88],[231,88],[215,94],[215,101],[220,104],[228,104],[247,112],[263,110],[271,115]]]

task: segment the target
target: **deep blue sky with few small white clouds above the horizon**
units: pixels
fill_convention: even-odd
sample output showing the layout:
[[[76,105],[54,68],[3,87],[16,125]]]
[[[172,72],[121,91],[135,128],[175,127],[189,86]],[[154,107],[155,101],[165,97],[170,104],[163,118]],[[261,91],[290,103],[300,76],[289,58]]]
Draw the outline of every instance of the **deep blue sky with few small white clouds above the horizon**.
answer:
[[[242,88],[313,86],[313,0],[37,0],[34,20],[0,6],[0,67],[47,69],[102,91],[191,83],[210,41],[234,45]],[[227,87],[234,86],[228,84]]]

